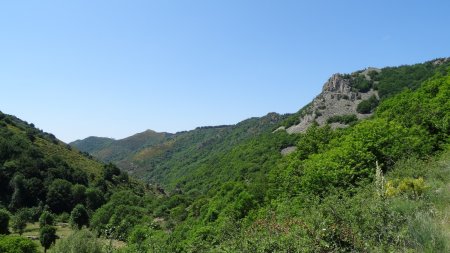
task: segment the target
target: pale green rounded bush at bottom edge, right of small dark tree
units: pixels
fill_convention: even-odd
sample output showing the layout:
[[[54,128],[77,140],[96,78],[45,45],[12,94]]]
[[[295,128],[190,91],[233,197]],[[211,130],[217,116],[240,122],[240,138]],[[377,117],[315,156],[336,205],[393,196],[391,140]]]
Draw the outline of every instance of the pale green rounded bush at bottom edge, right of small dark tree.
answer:
[[[51,253],[102,253],[103,244],[89,230],[76,230],[67,238],[60,239],[50,249]]]

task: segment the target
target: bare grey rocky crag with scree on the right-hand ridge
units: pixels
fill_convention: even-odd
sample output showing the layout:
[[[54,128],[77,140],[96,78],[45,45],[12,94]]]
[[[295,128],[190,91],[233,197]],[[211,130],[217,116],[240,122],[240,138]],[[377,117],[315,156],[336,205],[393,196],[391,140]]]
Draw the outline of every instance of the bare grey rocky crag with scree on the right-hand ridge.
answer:
[[[370,89],[361,92],[353,87],[356,77],[370,80],[370,71],[380,71],[368,68],[352,75],[334,74],[323,85],[322,92],[306,108],[305,113],[300,116],[300,123],[286,129],[288,133],[301,133],[306,131],[314,122],[325,125],[332,116],[356,115],[358,119],[369,117],[371,114],[360,114],[356,111],[358,104],[375,95],[378,92]],[[333,128],[346,127],[346,124],[332,123]]]

